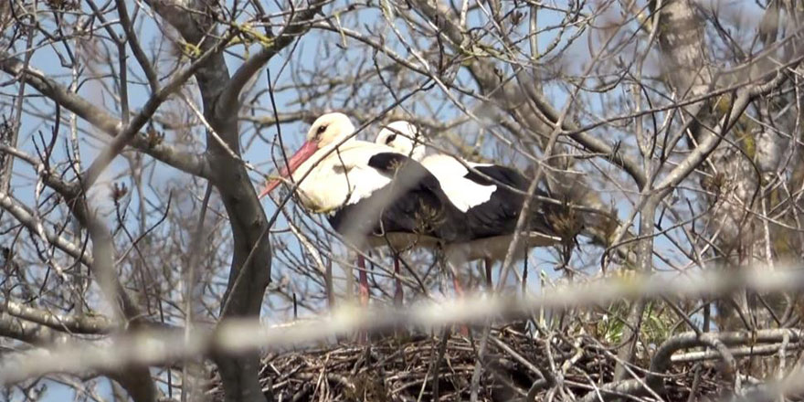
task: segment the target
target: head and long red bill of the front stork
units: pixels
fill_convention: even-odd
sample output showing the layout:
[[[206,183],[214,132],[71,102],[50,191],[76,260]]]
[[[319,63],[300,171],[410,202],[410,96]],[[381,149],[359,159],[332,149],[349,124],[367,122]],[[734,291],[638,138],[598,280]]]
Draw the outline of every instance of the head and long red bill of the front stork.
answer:
[[[301,166],[304,161],[323,148],[333,147],[354,132],[354,124],[344,113],[327,113],[312,122],[307,132],[306,141],[296,153],[288,159],[288,166],[280,170],[280,176],[288,177]],[[268,196],[280,185],[280,179],[271,180],[259,193],[259,198]]]

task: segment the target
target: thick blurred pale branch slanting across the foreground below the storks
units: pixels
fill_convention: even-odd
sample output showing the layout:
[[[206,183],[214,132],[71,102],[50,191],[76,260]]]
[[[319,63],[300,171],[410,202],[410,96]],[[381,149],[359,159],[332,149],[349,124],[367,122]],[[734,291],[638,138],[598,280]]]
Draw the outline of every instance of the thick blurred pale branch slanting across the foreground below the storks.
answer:
[[[260,348],[278,350],[311,344],[341,333],[380,331],[400,324],[431,328],[450,323],[481,323],[485,319],[511,319],[532,314],[538,308],[569,309],[621,299],[700,298],[740,290],[766,293],[802,288],[804,270],[707,271],[674,280],[669,280],[666,275],[601,280],[524,298],[478,297],[426,303],[407,311],[341,309],[330,318],[278,326],[264,326],[257,321],[243,320],[222,323],[214,331],[198,329],[188,335],[182,331],[141,331],[97,343],[75,342],[50,350],[35,349],[8,354],[0,365],[0,384],[9,385],[48,373],[83,373],[87,370],[109,372],[122,365],[169,365],[199,355],[254,354]],[[790,331],[791,336],[799,336],[798,331]],[[694,341],[703,342],[705,339],[708,338],[702,335]]]

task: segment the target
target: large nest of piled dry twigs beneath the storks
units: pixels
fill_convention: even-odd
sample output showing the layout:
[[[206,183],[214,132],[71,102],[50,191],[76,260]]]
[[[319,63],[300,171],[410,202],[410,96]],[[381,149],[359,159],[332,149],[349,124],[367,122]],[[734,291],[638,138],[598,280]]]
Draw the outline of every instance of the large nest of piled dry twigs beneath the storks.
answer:
[[[480,327],[469,335],[457,327],[449,333],[400,331],[365,343],[271,353],[260,378],[269,400],[281,401],[454,401],[473,394],[480,401],[598,400],[595,385],[613,381],[615,353],[590,336],[545,339],[527,334],[523,324],[483,334]],[[632,368],[638,376],[645,372],[637,366],[651,365],[640,354]],[[662,378],[658,392],[667,401],[717,397],[734,384],[716,361],[674,364]],[[223,400],[217,375],[213,384],[209,394]],[[630,399],[640,394],[654,399],[644,388]]]

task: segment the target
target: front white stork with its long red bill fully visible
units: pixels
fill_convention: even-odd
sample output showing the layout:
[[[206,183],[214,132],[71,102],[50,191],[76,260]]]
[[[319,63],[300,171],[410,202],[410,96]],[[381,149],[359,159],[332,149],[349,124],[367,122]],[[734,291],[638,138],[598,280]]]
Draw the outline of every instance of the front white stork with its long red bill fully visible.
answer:
[[[427,169],[386,145],[354,139],[354,125],[343,113],[324,114],[313,122],[305,143],[280,176],[297,185],[302,206],[326,214],[335,231],[360,251],[469,238],[460,210]],[[272,180],[259,197],[281,182]],[[360,301],[366,304],[368,280],[362,255],[357,265]],[[395,270],[398,297],[398,265]]]

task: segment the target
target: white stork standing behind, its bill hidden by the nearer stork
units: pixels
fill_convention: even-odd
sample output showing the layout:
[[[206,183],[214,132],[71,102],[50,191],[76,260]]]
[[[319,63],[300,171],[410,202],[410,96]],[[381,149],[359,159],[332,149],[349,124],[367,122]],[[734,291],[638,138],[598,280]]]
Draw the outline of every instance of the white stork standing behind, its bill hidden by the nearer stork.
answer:
[[[471,163],[447,154],[426,156],[421,140],[415,125],[397,121],[377,133],[376,143],[418,160],[439,179],[450,202],[463,213],[472,237],[468,241],[449,242],[447,259],[456,265],[483,259],[487,286],[491,288],[492,261],[505,259],[522,211],[525,199],[522,193],[527,192],[530,181],[516,170],[499,164]],[[536,195],[546,196],[538,189]],[[550,246],[561,241],[545,219],[543,210],[532,208],[531,214],[524,241],[513,251],[515,256],[524,256],[530,247]]]

